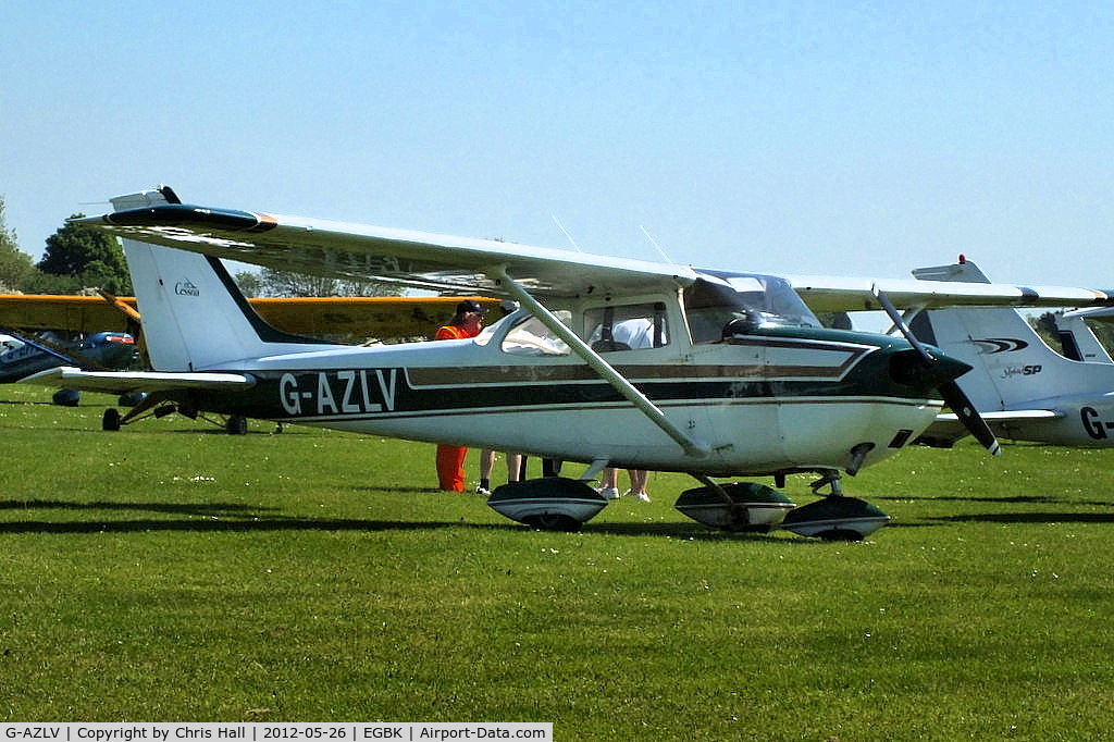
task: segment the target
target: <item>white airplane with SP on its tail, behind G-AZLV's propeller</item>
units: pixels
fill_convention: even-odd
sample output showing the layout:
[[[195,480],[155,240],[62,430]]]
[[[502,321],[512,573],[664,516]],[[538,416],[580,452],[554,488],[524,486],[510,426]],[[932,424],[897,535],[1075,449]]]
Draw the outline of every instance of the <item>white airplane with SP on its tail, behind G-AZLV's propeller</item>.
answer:
[[[989,284],[975,263],[918,269],[922,281]],[[915,315],[917,335],[973,367],[958,381],[990,428],[1003,438],[1054,446],[1114,446],[1114,362],[1082,319],[1066,315],[1075,359],[1057,353],[1009,307],[950,307]],[[1086,360],[1084,360],[1086,359]],[[922,442],[950,446],[967,431],[941,414]]]

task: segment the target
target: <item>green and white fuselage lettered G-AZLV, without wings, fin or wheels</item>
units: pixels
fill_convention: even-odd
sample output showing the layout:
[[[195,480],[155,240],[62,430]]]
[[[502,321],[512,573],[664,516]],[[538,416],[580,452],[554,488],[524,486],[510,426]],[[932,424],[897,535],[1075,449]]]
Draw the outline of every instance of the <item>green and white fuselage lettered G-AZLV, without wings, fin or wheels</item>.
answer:
[[[772,285],[784,292],[783,301],[795,299],[775,279],[736,277]],[[770,475],[858,469],[889,456],[935,419],[940,401],[932,389],[966,368],[929,373],[902,340],[802,324],[811,315],[799,300],[791,319],[764,312],[761,323],[744,329],[736,322],[726,335],[716,331],[714,339],[693,342],[684,304],[670,300],[587,302],[566,312],[583,323],[585,338],[610,326],[605,315],[625,318],[612,320],[617,324],[637,312],[657,313],[663,332],[656,346],[596,352],[683,430],[698,455],[685,455],[525,310],[475,340],[222,364],[211,370],[250,375],[251,388],[234,396],[189,390],[179,400],[226,414],[566,460]],[[772,303],[766,289],[746,300]],[[720,305],[719,318],[710,309],[700,321],[722,330],[743,305]]]

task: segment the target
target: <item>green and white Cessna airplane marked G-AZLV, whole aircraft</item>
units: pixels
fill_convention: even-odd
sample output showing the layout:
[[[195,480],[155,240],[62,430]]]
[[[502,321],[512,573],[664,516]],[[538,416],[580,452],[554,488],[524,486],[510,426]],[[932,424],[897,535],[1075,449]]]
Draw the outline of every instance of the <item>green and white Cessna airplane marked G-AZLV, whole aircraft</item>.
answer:
[[[577,479],[498,488],[489,505],[538,528],[578,528],[607,500],[606,466],[692,475],[677,508],[713,527],[781,527],[861,538],[887,516],[842,492],[915,440],[941,408],[997,442],[954,383],[970,367],[938,349],[823,329],[828,307],[893,304],[1101,305],[1103,292],[802,279],[697,270],[531,247],[208,208],[169,188],[113,199],[79,219],[124,241],[154,371],[59,369],[37,378],[180,406],[412,440],[583,462]],[[509,297],[520,309],[477,338],[380,348],[306,342],[253,313],[218,258]],[[798,291],[794,291],[794,287]],[[900,320],[900,315],[897,316]],[[652,328],[645,348],[617,325]],[[204,330],[203,332],[201,330]],[[908,330],[908,329],[906,329]],[[786,514],[780,492],[714,478],[819,475],[822,498]],[[782,520],[783,519],[783,520]]]

